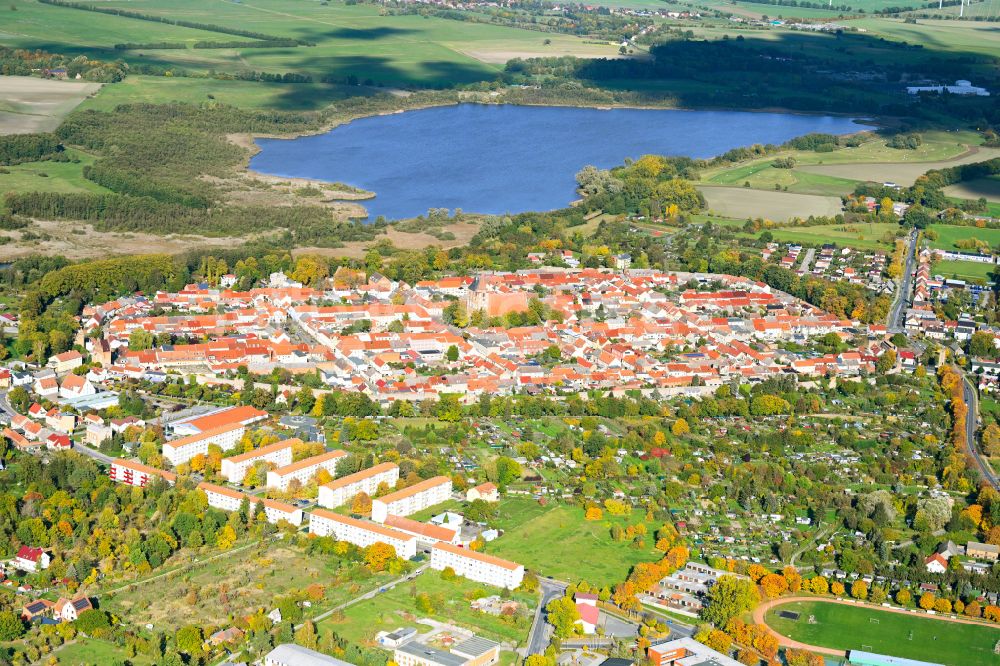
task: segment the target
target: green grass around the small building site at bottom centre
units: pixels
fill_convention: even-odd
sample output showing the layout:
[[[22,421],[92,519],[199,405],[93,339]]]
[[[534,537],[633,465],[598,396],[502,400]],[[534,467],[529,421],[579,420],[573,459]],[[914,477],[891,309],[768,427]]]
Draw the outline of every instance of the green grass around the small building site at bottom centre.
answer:
[[[417,610],[416,596],[427,593],[436,597],[433,615]],[[413,581],[396,585],[372,599],[347,608],[343,617],[336,615],[319,624],[319,632],[335,631],[345,639],[361,645],[373,645],[375,634],[391,631],[397,627],[413,627],[421,633],[430,630],[429,625],[417,620],[430,617],[441,622],[452,622],[475,631],[477,634],[497,641],[521,643],[531,627],[531,614],[536,604],[533,595],[515,593],[514,598],[525,605],[524,618],[520,620],[502,619],[473,611],[470,599],[499,594],[497,588],[458,578],[445,581],[437,571],[427,570]]]

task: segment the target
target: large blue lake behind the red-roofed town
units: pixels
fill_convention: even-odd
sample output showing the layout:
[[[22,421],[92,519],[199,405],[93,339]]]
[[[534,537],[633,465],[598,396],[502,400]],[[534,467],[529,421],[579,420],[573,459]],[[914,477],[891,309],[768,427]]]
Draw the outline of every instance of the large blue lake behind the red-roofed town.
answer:
[[[325,134],[258,139],[250,168],[375,192],[371,219],[430,208],[501,214],[562,208],[576,173],[645,154],[712,157],[810,132],[863,129],[848,118],[739,111],[457,106],[374,116]]]

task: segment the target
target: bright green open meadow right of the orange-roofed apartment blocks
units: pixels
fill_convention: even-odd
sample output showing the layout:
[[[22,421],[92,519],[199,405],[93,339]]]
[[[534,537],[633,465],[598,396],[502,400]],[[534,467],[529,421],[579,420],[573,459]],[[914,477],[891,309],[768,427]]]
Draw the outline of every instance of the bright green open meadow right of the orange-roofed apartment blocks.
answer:
[[[514,560],[526,569],[565,581],[586,580],[591,584],[620,582],[639,562],[659,559],[653,550],[655,538],[646,536],[646,548],[632,548],[628,541],[611,540],[613,524],[643,522],[641,512],[625,518],[587,521],[580,507],[560,504],[540,506],[531,499],[510,498],[500,503],[500,528],[504,535],[486,544],[486,552]],[[655,532],[657,525],[646,525]]]

